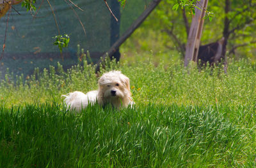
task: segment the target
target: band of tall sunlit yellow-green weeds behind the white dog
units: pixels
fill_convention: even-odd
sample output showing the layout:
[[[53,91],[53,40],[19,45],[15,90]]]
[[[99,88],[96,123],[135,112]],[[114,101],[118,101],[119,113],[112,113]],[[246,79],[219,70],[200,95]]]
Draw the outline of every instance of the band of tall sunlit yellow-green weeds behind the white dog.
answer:
[[[108,62],[106,70],[120,70],[131,80],[131,92],[138,104],[188,104],[200,106],[253,106],[256,102],[255,66],[246,60],[230,60],[228,71],[222,67],[193,66],[184,68],[182,62],[162,62],[157,66],[150,60],[128,66],[128,62]],[[104,73],[104,72],[102,72]],[[61,95],[75,90],[97,89],[94,67],[77,65],[64,72],[62,66],[52,66],[24,80],[22,76],[6,74],[0,83],[0,104],[12,106],[28,102],[61,102]]]

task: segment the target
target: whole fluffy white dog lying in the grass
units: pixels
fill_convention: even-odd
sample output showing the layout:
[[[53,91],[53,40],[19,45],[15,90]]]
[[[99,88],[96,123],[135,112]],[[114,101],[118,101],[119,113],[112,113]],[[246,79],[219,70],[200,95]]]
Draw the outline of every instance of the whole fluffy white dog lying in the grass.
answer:
[[[89,103],[95,104],[96,101],[100,106],[111,104],[117,109],[127,108],[134,103],[129,78],[120,71],[104,73],[99,79],[99,90],[92,90],[87,94],[76,91],[62,96],[66,97],[64,101],[67,106],[76,111],[81,111]]]

